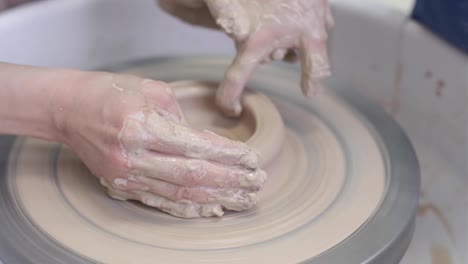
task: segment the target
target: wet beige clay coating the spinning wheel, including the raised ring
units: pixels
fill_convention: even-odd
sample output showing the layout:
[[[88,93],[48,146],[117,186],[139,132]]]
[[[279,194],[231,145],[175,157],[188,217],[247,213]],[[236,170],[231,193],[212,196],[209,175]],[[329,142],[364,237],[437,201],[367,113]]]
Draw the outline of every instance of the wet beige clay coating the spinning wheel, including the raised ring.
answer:
[[[244,141],[260,154],[259,165],[269,176],[255,206],[222,217],[181,219],[109,199],[70,149],[27,138],[15,146],[7,175],[21,212],[62,247],[93,262],[298,263],[348,238],[378,208],[386,177],[379,142],[333,94],[301,104],[247,93],[247,111],[229,119],[210,109],[214,103],[206,104],[214,101],[214,90],[183,87],[174,90],[187,122]],[[258,107],[249,108],[251,103]],[[268,105],[281,118],[259,118]],[[158,197],[147,202],[182,210]],[[177,212],[210,215],[220,214],[218,209],[189,204]]]

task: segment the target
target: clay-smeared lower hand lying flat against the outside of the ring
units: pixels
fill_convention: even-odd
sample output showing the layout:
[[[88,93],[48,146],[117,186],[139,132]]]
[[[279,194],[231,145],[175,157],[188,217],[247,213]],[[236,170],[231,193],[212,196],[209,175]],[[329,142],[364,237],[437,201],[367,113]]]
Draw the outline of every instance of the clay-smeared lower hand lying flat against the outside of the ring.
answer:
[[[255,203],[266,174],[241,142],[192,129],[171,88],[111,73],[80,73],[63,112],[67,143],[117,199],[184,217]]]

